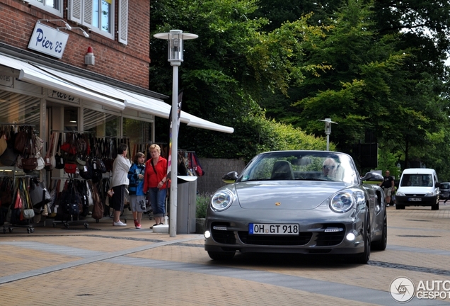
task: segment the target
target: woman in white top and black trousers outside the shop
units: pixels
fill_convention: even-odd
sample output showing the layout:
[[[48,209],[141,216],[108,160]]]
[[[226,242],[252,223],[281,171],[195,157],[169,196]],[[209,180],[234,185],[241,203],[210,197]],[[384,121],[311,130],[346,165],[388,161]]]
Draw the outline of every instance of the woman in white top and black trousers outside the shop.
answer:
[[[129,184],[128,170],[131,162],[127,159],[128,146],[120,144],[117,147],[117,157],[113,163],[113,176],[111,178],[111,188],[113,188],[113,196],[110,199],[110,206],[113,207],[113,226],[127,226],[126,223],[120,221],[120,213],[125,204],[125,186]]]

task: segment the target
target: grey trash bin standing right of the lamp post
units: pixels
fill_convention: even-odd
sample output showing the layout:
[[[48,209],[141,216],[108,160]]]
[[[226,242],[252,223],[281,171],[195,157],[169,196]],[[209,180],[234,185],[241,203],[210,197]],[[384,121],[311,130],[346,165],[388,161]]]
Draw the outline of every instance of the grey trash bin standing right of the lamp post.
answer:
[[[192,234],[197,212],[197,176],[177,177],[177,234]]]

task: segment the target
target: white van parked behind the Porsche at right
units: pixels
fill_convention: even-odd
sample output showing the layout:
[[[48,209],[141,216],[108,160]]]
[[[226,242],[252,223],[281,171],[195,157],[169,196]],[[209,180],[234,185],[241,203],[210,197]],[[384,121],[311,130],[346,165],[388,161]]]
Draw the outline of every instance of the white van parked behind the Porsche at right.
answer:
[[[396,209],[405,206],[431,206],[439,210],[439,186],[434,169],[405,169],[398,183]]]

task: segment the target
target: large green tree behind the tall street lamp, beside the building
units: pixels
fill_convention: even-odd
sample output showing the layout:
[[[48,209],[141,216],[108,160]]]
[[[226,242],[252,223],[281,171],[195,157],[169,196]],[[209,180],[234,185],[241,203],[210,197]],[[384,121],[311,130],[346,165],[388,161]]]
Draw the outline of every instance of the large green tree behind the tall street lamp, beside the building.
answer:
[[[255,4],[248,0],[151,4],[152,34],[180,28],[199,35],[185,42],[185,62],[179,69],[183,111],[235,128],[232,135],[225,135],[182,126],[180,148],[205,157],[246,158],[279,149],[274,123],[258,104],[261,89],[286,92],[291,82],[301,82],[304,72],[324,69],[323,65],[299,65],[302,49],[309,43],[304,38],[323,35],[320,27],[308,26],[302,18],[265,33],[261,30],[267,24],[265,18],[249,18]],[[153,39],[151,52],[151,88],[171,95],[166,42]],[[166,139],[166,135],[159,137]],[[230,150],[224,144],[237,147]]]

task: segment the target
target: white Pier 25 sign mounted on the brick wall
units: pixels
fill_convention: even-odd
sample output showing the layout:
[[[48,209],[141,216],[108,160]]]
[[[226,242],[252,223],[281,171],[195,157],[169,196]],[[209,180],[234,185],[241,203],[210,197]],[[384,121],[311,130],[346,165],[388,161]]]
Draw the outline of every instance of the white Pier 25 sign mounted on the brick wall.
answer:
[[[31,35],[28,48],[60,59],[67,40],[69,40],[69,34],[38,22]]]

